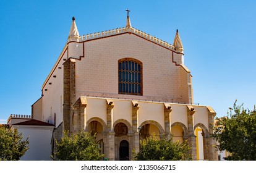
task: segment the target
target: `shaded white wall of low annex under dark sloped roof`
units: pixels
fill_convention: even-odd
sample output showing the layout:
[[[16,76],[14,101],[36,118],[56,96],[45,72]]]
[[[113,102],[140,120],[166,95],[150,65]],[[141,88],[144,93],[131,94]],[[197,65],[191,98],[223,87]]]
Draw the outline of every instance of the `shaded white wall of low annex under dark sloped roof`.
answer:
[[[20,158],[23,161],[50,161],[51,158],[51,137],[53,134],[53,127],[38,127],[22,125],[17,127],[19,133],[22,133],[23,139],[28,138],[29,149]]]

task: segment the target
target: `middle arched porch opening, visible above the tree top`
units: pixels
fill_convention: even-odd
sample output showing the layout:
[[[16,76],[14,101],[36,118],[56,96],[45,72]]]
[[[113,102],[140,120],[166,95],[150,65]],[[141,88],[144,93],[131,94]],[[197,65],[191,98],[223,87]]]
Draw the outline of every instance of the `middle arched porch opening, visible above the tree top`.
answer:
[[[155,134],[156,137],[160,135],[160,130],[154,124],[145,124],[142,126],[140,130],[140,140],[146,139],[147,137],[151,137]]]

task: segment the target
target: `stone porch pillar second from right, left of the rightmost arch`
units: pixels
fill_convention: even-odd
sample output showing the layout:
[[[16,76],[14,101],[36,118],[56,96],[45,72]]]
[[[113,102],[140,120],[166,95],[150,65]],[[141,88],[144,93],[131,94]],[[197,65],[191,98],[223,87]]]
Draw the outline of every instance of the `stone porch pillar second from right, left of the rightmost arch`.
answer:
[[[194,113],[195,109],[193,106],[187,106],[187,129],[189,130],[187,140],[191,147],[190,154],[192,155],[192,160],[197,160],[197,141],[194,133]]]

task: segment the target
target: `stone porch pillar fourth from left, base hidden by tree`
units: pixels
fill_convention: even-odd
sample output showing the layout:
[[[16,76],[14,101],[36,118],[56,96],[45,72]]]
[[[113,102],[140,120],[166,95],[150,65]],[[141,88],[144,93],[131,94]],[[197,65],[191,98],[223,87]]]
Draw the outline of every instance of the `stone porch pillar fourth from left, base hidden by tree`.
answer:
[[[168,138],[171,138],[171,104],[164,103],[164,135]]]

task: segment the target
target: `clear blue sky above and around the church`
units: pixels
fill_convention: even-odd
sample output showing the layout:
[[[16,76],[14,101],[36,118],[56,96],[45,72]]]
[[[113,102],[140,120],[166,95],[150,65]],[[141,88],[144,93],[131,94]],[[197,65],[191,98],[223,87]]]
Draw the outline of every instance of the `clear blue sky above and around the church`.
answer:
[[[225,116],[256,104],[256,1],[0,1],[0,123],[31,114],[64,48],[72,16],[80,35],[126,25],[173,43],[179,29],[194,102]]]

